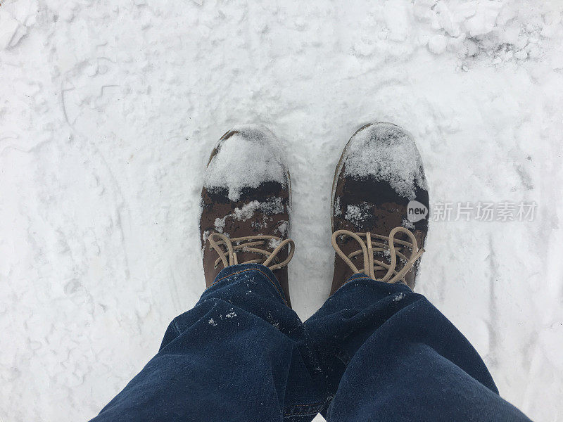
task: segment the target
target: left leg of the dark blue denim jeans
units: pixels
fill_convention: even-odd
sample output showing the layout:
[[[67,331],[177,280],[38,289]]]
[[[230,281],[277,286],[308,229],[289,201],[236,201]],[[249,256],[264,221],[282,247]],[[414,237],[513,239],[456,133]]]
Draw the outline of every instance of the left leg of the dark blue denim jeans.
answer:
[[[272,271],[223,269],[92,421],[311,421],[326,404],[305,328]]]

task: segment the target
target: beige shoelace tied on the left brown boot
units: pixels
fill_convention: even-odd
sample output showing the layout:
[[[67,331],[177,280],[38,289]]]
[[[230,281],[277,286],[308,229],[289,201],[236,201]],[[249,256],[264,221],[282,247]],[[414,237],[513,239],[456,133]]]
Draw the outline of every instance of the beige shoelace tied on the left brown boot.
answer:
[[[217,240],[215,240],[215,238],[217,238]],[[217,260],[215,260],[215,268],[217,268],[217,265],[220,262],[222,262],[224,268],[239,264],[239,257],[236,256],[237,252],[253,252],[264,255],[265,259],[250,260],[241,262],[241,264],[262,264],[274,271],[274,269],[279,269],[289,264],[289,261],[291,261],[291,258],[293,257],[293,252],[295,252],[295,243],[293,243],[291,239],[281,240],[281,238],[277,236],[260,235],[228,238],[227,236],[224,236],[224,234],[212,233],[209,235],[208,240],[209,248],[215,249],[215,252],[219,255]],[[279,242],[279,244],[271,252],[269,250],[258,248],[267,246],[272,240]],[[283,262],[279,262],[279,264],[270,265],[274,261],[278,252],[288,244],[290,245],[290,248],[286,259]],[[224,248],[226,248],[226,250]]]

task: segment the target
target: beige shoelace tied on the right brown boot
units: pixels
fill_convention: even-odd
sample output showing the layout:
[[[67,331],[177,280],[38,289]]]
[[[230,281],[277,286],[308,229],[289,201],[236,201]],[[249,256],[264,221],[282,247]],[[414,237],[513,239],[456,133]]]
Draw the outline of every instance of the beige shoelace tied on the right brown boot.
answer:
[[[395,236],[399,232],[407,234],[410,238],[410,242],[396,239]],[[339,236],[349,236],[354,238],[358,241],[358,243],[360,243],[362,248],[350,253],[350,255],[346,255],[342,252],[338,243],[336,243]],[[377,239],[377,241],[373,241],[373,238]],[[381,241],[387,241],[387,243],[382,243]],[[407,272],[415,265],[415,262],[417,262],[422,253],[424,253],[424,248],[418,247],[417,239],[415,238],[415,235],[412,234],[412,231],[405,229],[404,227],[396,227],[391,230],[389,236],[372,234],[369,233],[369,231],[367,233],[353,233],[348,230],[337,230],[332,234],[332,247],[336,250],[339,257],[348,264],[348,267],[354,271],[354,274],[367,274],[370,278],[377,281],[384,281],[385,283],[397,283],[398,281],[403,281],[403,283],[406,284],[405,274],[407,274]],[[403,253],[405,248],[410,248],[412,251],[409,257],[405,256]],[[374,254],[378,252],[385,252],[386,250],[391,252],[390,264],[374,259]],[[362,269],[358,269],[358,267],[356,267],[352,262],[352,258],[360,254],[363,254],[364,258],[364,267]],[[405,260],[405,265],[403,266],[403,269],[400,269],[400,271],[396,270],[397,257]],[[376,279],[375,273],[380,270],[387,270],[387,272],[382,279]]]

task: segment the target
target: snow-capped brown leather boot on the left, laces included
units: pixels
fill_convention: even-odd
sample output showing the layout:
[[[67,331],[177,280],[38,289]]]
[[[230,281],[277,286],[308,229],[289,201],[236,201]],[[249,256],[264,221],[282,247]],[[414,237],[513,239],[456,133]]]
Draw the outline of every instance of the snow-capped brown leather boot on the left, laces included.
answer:
[[[201,191],[205,285],[234,264],[269,267],[289,302],[291,184],[277,139],[258,125],[234,127],[213,149]]]

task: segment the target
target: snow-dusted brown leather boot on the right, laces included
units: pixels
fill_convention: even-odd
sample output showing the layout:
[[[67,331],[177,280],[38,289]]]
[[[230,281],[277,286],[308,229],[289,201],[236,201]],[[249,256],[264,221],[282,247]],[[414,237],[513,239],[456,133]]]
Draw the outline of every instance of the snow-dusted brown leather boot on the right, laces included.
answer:
[[[355,132],[336,166],[331,203],[331,294],[358,273],[414,288],[429,202],[412,136],[384,122]]]

